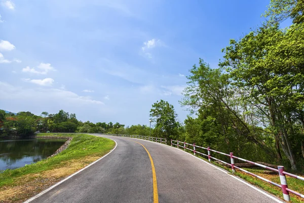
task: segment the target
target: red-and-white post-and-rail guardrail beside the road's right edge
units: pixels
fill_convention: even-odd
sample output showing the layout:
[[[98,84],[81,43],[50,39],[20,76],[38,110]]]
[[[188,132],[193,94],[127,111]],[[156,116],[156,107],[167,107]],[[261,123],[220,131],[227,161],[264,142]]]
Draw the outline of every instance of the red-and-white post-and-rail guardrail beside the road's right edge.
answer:
[[[290,173],[285,172],[284,171],[284,166],[278,166],[278,169],[272,168],[272,167],[269,167],[269,166],[266,166],[266,165],[263,165],[263,164],[259,164],[259,163],[253,162],[253,161],[249,161],[249,160],[246,160],[246,159],[234,156],[233,152],[230,152],[230,154],[225,154],[223,152],[219,152],[219,151],[210,149],[210,147],[205,148],[205,147],[197,146],[197,145],[195,145],[195,143],[194,144],[189,144],[189,143],[186,143],[186,142],[180,142],[178,140],[171,140],[171,146],[176,146],[177,148],[181,148],[181,149],[184,149],[184,150],[186,150],[186,149],[190,150],[190,151],[192,151],[194,153],[194,155],[196,155],[198,153],[198,154],[201,154],[203,156],[206,156],[206,157],[208,157],[209,162],[211,162],[211,159],[214,159],[214,160],[220,161],[221,163],[224,163],[226,165],[230,165],[231,168],[232,168],[232,172],[233,173],[235,172],[236,169],[238,169],[238,170],[240,170],[240,171],[242,171],[242,172],[244,172],[246,174],[250,174],[251,176],[254,176],[254,177],[256,177],[258,179],[261,179],[261,180],[263,180],[265,182],[273,184],[273,185],[275,185],[275,186],[277,186],[277,187],[279,187],[279,188],[282,189],[283,197],[284,197],[284,200],[286,200],[286,201],[290,201],[289,192],[291,192],[291,193],[293,193],[295,195],[298,195],[298,196],[304,198],[304,194],[300,194],[300,193],[298,193],[296,191],[293,191],[293,190],[291,190],[291,189],[288,188],[287,180],[286,180],[286,175],[290,176],[290,177],[293,177],[293,178],[296,178],[296,179],[299,179],[299,180],[302,180],[302,181],[304,181],[304,178],[300,177],[300,176],[296,176],[294,174],[290,174]],[[193,149],[190,149],[190,147],[192,147]],[[196,151],[197,148],[207,150],[207,154],[204,154],[202,152]],[[217,159],[217,158],[211,156],[211,152],[215,152],[215,153],[218,153],[218,154],[221,154],[221,155],[224,155],[224,156],[228,156],[228,157],[230,157],[230,161],[231,162],[227,163],[225,161]],[[279,176],[280,176],[281,185],[279,185],[279,184],[277,184],[275,182],[272,182],[272,181],[270,181],[268,179],[265,179],[263,177],[260,177],[260,176],[258,176],[256,174],[253,174],[251,172],[248,172],[248,171],[244,170],[241,167],[236,166],[234,159],[245,161],[247,163],[251,163],[253,165],[256,165],[256,166],[259,166],[259,167],[263,167],[263,168],[265,168],[267,170],[271,170],[271,171],[277,172],[279,174]]]

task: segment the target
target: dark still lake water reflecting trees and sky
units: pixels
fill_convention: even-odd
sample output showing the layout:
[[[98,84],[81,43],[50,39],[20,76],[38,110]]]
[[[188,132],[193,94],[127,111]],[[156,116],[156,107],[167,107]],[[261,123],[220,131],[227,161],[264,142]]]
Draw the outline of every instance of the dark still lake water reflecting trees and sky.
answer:
[[[65,139],[0,140],[0,172],[51,156]]]

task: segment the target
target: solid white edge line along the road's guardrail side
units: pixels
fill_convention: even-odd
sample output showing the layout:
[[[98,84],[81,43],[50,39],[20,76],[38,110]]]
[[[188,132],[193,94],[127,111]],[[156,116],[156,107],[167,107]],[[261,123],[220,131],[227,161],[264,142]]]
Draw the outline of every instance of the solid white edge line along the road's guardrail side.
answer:
[[[114,137],[115,137],[115,136],[114,136]],[[122,137],[122,138],[127,138],[127,137]],[[142,139],[138,139],[138,138],[133,138],[133,139],[142,140]],[[143,141],[148,141],[148,140],[143,140]],[[153,141],[150,141],[150,142],[153,142]],[[157,143],[157,142],[153,142],[153,143]],[[158,143],[158,144],[162,144],[162,143]],[[205,161],[204,159],[201,159],[201,158],[199,158],[199,157],[197,157],[197,156],[195,156],[195,155],[193,155],[193,154],[190,154],[190,153],[188,153],[188,152],[185,152],[184,150],[181,150],[181,149],[179,149],[179,148],[176,148],[176,147],[173,147],[173,146],[170,146],[170,145],[165,145],[165,144],[162,144],[162,145],[168,146],[168,147],[172,147],[172,148],[177,149],[177,150],[180,150],[180,151],[182,151],[182,152],[184,152],[184,153],[186,153],[186,154],[189,154],[189,155],[191,155],[191,156],[193,156],[193,157],[195,157],[195,158],[197,158],[197,159],[199,159],[199,160],[201,160],[201,161],[203,161],[203,162],[205,162],[205,163],[211,165],[212,167],[215,167],[217,170],[219,170],[219,171],[221,171],[221,172],[223,172],[223,173],[225,173],[225,174],[231,176],[232,178],[234,178],[234,179],[236,179],[236,180],[238,180],[238,181],[244,183],[245,185],[248,185],[249,187],[255,189],[256,191],[258,191],[258,192],[260,192],[260,193],[262,193],[262,194],[268,196],[269,198],[275,200],[276,202],[284,203],[284,201],[281,201],[281,200],[277,199],[276,197],[274,197],[274,196],[272,196],[272,195],[270,195],[270,194],[264,192],[263,190],[261,190],[261,189],[255,187],[255,186],[253,186],[253,185],[251,185],[251,184],[249,184],[249,183],[243,181],[242,179],[237,178],[236,176],[233,176],[233,175],[229,174],[227,171],[222,170],[221,168],[219,168],[219,167],[217,167],[217,166],[215,166],[215,165],[213,165],[213,164],[211,164],[211,163]]]

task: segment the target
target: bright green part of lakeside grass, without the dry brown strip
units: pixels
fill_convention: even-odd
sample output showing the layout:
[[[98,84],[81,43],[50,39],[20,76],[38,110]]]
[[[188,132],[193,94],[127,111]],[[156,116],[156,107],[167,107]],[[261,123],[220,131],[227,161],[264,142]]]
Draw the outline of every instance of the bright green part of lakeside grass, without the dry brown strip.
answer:
[[[88,157],[101,157],[115,146],[115,142],[109,139],[89,136],[87,134],[39,134],[37,137],[73,137],[67,149],[56,156],[39,162],[26,165],[15,170],[6,170],[0,174],[0,188],[3,186],[14,186],[20,178],[29,174],[37,174],[55,168],[64,167],[68,162],[75,162]]]

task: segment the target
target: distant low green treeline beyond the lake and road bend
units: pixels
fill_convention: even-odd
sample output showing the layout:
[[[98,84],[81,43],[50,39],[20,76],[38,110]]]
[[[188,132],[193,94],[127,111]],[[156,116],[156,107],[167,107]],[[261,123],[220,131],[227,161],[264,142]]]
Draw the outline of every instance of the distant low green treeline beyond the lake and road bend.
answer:
[[[99,132],[99,133],[128,133],[148,136],[149,127],[132,125],[125,127],[120,123],[82,122],[76,115],[63,110],[57,114],[42,112],[40,116],[31,112],[19,112],[17,115],[0,110],[0,137],[18,136],[30,137],[36,131],[40,132]]]

